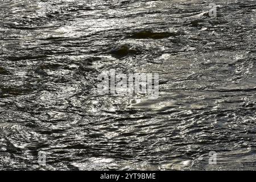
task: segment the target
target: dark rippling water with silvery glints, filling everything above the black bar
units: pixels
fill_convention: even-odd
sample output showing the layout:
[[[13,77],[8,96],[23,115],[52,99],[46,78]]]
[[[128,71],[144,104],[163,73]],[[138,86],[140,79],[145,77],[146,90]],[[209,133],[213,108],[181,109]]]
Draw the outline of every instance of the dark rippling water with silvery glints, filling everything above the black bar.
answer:
[[[2,0],[0,169],[255,170],[255,11],[254,0]],[[110,69],[159,73],[159,98],[100,96]]]

